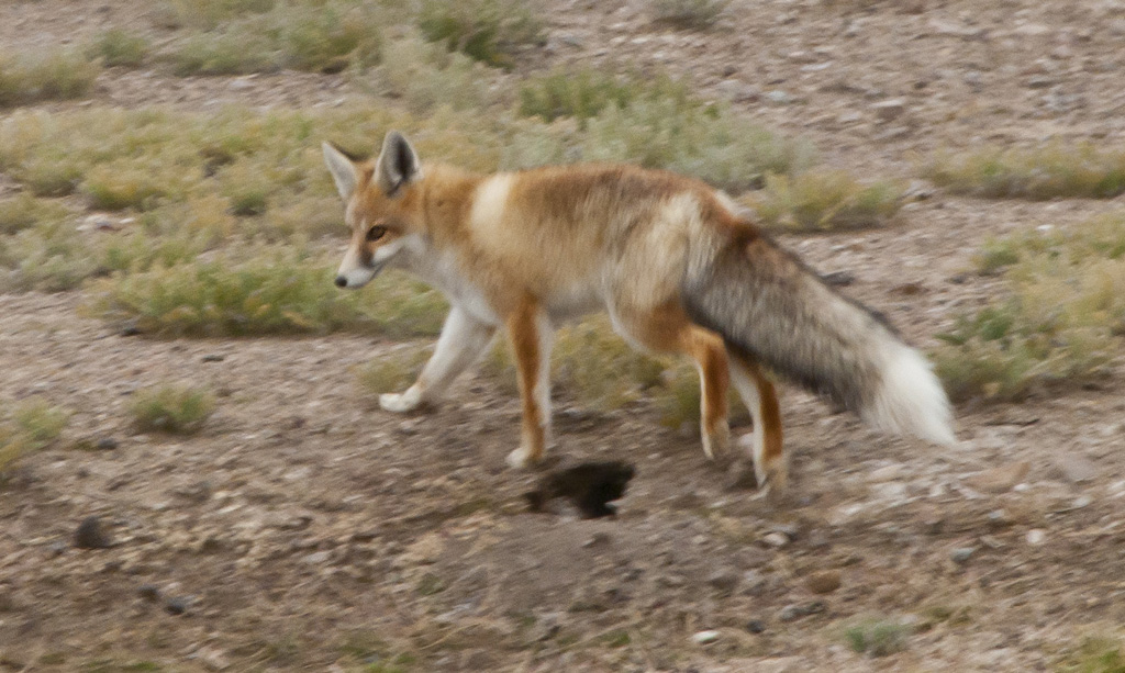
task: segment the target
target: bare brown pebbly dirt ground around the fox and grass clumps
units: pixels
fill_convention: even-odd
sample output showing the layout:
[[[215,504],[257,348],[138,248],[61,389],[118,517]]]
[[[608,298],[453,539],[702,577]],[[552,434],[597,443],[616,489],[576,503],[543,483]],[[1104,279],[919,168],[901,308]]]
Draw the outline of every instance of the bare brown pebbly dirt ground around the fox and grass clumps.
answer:
[[[137,4],[6,2],[0,44],[111,25],[160,39]],[[521,67],[683,73],[860,175],[909,176],[929,151],[982,142],[1125,142],[1118,1],[735,0],[706,33],[652,24],[645,7],[555,3],[547,46]],[[93,100],[359,96],[336,75],[242,80],[108,71]],[[902,100],[891,118],[889,99]],[[68,104],[87,103],[46,107]],[[1123,206],[936,192],[901,227],[784,243],[853,273],[846,292],[929,347],[994,295],[994,280],[964,273],[983,240]],[[591,521],[526,511],[534,475],[503,463],[519,404],[487,379],[395,416],[353,372],[390,342],[150,340],[80,317],[80,302],[0,295],[0,399],[74,410],[68,442],[0,490],[0,671],[1047,671],[1125,622],[1120,376],[958,408],[955,449],[878,435],[785,389],[784,508],[727,488],[698,439],[648,407],[601,413],[559,394],[554,454],[638,469],[620,516]],[[218,391],[201,434],[128,424],[128,394],[164,381]],[[101,438],[116,448],[74,448]],[[92,515],[114,546],[74,548]],[[906,649],[853,652],[845,631],[867,618],[911,627]]]

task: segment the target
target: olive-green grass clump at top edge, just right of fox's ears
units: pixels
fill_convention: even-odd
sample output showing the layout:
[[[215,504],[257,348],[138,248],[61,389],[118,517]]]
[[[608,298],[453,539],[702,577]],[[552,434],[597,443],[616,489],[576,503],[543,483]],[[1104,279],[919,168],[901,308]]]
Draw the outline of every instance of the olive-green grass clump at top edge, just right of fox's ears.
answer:
[[[541,43],[543,29],[526,0],[422,0],[417,26],[450,52],[502,67],[521,47]]]

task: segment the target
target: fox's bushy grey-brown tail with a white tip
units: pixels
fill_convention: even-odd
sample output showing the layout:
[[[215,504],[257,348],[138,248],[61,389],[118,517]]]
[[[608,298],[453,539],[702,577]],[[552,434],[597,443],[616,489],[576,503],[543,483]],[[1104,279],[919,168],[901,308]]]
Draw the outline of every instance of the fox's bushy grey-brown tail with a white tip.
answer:
[[[950,401],[929,363],[881,316],[765,237],[705,247],[684,278],[693,320],[875,427],[955,443]]]

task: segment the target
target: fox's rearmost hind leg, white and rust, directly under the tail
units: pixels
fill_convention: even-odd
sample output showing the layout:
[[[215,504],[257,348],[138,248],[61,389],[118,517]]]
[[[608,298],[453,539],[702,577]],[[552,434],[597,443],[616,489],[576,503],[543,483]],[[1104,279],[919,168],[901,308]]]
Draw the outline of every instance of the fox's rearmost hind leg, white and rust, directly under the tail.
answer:
[[[758,488],[768,489],[771,497],[778,497],[789,481],[789,462],[783,446],[777,391],[752,357],[734,349],[728,349],[728,355],[735,388],[754,419],[752,457]]]

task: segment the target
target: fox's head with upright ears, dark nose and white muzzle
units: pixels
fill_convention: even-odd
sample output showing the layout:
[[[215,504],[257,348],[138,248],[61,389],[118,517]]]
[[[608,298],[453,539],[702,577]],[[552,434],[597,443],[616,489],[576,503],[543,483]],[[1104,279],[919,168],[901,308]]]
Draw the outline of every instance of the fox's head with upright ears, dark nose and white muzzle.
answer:
[[[407,206],[415,198],[411,188],[421,178],[421,165],[414,148],[396,130],[387,133],[375,163],[356,161],[331,143],[324,143],[323,149],[351,229],[336,285],[362,288],[420,240]]]

